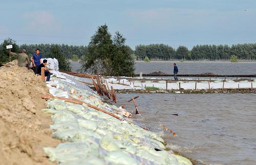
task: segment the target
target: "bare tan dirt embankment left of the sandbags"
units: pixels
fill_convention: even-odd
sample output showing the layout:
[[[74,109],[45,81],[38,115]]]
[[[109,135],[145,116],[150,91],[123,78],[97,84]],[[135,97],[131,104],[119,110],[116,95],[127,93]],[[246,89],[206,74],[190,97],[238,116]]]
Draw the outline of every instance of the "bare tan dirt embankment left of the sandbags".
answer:
[[[43,147],[56,146],[50,115],[41,113],[45,83],[24,67],[0,68],[0,164],[51,164]]]

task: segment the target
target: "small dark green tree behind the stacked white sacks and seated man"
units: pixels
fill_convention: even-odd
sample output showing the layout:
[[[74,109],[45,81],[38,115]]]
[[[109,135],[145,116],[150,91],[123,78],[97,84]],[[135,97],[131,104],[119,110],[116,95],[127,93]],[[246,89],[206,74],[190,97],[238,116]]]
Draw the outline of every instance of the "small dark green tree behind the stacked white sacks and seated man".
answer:
[[[49,58],[58,60],[59,70],[71,71],[70,62],[61,53],[59,45],[52,44]]]

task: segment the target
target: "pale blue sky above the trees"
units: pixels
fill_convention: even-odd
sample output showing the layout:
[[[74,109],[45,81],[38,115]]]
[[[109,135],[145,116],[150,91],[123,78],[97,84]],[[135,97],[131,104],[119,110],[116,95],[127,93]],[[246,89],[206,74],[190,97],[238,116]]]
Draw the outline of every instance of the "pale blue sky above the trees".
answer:
[[[133,49],[163,43],[256,43],[255,0],[0,0],[0,42],[88,45],[97,27]]]

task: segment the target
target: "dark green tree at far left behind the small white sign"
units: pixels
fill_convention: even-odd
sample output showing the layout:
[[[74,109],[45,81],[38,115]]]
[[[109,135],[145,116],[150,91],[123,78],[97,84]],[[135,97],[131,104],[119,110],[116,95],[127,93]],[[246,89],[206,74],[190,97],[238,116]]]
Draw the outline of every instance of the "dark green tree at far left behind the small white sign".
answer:
[[[4,40],[2,44],[0,44],[0,65],[2,63],[10,62],[10,53],[9,49],[6,49],[7,45],[12,45],[11,51],[20,53],[20,49],[18,45],[16,44],[16,41],[12,40],[11,38],[7,38]],[[11,56],[11,60],[16,59],[15,56]]]

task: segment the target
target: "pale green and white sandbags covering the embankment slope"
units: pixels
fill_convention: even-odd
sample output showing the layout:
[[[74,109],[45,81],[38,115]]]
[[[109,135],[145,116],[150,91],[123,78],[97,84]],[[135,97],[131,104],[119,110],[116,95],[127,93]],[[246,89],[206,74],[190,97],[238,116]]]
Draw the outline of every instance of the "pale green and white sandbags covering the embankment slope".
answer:
[[[50,99],[47,108],[41,109],[53,114],[53,124],[50,125],[53,137],[66,141],[55,148],[44,148],[51,161],[60,164],[191,164],[188,159],[166,151],[158,134],[117,114],[120,108],[115,105],[103,103],[98,95],[69,86],[63,79],[53,77],[52,81],[56,82],[56,88],[48,86],[52,95],[68,95],[86,104]],[[113,113],[124,121],[87,104]]]

